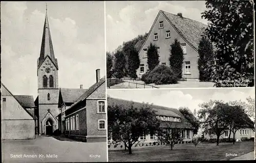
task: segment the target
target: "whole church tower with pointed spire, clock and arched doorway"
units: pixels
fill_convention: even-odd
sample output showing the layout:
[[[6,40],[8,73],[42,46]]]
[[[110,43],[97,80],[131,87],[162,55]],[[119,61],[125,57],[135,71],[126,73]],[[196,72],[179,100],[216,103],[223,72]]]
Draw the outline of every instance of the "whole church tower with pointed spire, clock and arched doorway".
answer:
[[[52,134],[58,129],[58,62],[54,56],[47,16],[42,34],[40,56],[37,60],[38,126],[39,134]]]

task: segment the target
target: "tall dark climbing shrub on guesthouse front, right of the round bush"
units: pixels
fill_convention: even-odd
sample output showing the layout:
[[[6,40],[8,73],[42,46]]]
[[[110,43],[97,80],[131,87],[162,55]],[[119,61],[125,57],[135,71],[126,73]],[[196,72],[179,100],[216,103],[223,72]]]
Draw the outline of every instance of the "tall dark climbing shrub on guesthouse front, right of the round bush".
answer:
[[[176,73],[177,77],[182,78],[182,65],[184,60],[184,53],[180,42],[175,39],[174,43],[170,45],[169,64],[170,68]]]

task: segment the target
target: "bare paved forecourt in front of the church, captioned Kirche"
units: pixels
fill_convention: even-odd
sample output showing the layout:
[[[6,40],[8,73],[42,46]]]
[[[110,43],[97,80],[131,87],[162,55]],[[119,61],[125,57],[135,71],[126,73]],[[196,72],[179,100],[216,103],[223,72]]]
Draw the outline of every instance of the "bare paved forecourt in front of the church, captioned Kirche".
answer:
[[[2,141],[2,162],[99,162],[107,160],[106,151],[104,142],[81,143],[37,137],[35,140]]]

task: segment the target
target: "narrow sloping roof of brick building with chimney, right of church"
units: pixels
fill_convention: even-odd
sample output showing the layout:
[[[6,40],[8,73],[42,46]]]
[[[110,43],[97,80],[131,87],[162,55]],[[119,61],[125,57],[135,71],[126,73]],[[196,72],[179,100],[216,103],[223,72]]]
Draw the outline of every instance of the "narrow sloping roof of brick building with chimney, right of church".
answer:
[[[81,97],[79,97],[77,99],[77,101],[75,103],[73,103],[66,111],[70,110],[73,106],[75,106],[76,104],[78,104],[79,102],[83,101],[84,99],[86,99],[88,96],[90,96],[99,86],[101,86],[104,82],[105,82],[106,78],[105,76],[103,76],[99,82],[95,83],[94,85],[92,85],[83,95],[81,95]],[[65,112],[66,112],[65,111]]]

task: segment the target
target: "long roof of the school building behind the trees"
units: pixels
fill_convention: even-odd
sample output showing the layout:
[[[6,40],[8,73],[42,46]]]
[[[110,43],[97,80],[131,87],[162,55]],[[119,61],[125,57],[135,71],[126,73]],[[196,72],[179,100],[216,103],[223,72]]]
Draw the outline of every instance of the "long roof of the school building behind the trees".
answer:
[[[108,97],[108,105],[113,104],[122,104],[124,106],[130,106],[133,101],[123,100]],[[133,102],[135,107],[141,107],[143,103]],[[191,124],[185,119],[185,117],[180,113],[176,108],[170,108],[159,105],[150,105],[152,110],[155,111],[156,115],[159,116],[168,116],[168,117],[176,117],[181,118],[181,122],[167,122],[161,121],[160,127],[177,127],[177,128],[193,128]]]

